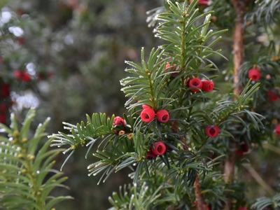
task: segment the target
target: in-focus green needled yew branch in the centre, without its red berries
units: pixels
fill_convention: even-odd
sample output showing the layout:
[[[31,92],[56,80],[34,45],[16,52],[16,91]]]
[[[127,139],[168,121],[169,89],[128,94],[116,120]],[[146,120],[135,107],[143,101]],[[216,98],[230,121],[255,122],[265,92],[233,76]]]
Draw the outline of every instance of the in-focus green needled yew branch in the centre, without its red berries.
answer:
[[[208,76],[209,71],[218,70],[211,56],[223,57],[213,47],[225,30],[209,29],[213,12],[200,14],[197,1],[190,5],[188,1],[167,3],[170,10],[152,15],[154,23],[158,22],[155,36],[167,43],[153,48],[148,57],[143,48],[141,64],[126,62],[131,67],[125,71],[133,76],[120,81],[129,98],[125,103],[129,114],[123,116],[125,125],[113,125],[115,116],[106,119],[105,114],[94,113],[92,118],[87,116],[86,123],[64,123],[70,134],[52,134],[52,146],[69,145],[64,153],[71,151],[72,155],[78,145],[85,144],[90,150],[97,142],[98,150],[93,155],[100,160],[88,169],[89,175],[103,173],[100,181],[125,167],[132,169],[133,186],[113,193],[109,199],[113,209],[192,209],[197,205],[196,189],[192,187],[196,179],[205,205],[223,209],[230,195],[237,199],[235,208],[241,207],[245,202],[243,184],[229,185],[219,168],[228,157],[230,139],[250,144],[251,132],[264,129],[264,118],[251,111],[252,97],[260,83],[252,85],[251,80],[244,80],[240,95],[231,94],[216,104],[212,102],[215,94],[191,87],[193,78],[216,77]],[[169,121],[160,123],[153,118],[144,123],[141,106],[155,113],[167,110]],[[205,129],[214,125],[221,131],[216,138],[208,137]],[[241,140],[244,134],[246,139]],[[147,154],[158,141],[165,144],[167,152],[150,161]],[[211,154],[216,156],[213,160]]]

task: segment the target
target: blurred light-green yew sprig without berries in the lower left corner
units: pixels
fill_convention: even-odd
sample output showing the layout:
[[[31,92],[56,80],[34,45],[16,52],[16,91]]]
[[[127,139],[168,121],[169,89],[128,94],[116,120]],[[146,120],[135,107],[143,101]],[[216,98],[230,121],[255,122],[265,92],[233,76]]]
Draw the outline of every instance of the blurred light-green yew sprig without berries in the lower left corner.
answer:
[[[50,122],[48,118],[39,124],[33,137],[29,128],[35,116],[31,109],[22,127],[19,127],[15,116],[11,116],[10,127],[0,124],[1,132],[8,137],[0,137],[0,208],[3,209],[52,209],[53,205],[70,196],[53,197],[50,192],[54,188],[63,187],[67,177],[62,172],[53,169],[55,157],[63,149],[49,150],[52,139],[42,146],[41,140],[46,137],[45,127]]]

